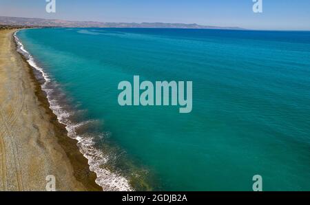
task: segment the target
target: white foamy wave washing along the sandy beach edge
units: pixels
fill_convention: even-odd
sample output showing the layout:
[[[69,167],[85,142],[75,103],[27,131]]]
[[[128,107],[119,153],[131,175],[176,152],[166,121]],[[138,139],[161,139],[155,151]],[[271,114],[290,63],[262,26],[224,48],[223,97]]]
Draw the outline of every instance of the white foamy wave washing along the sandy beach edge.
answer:
[[[53,113],[57,116],[59,122],[65,125],[65,128],[68,131],[68,136],[78,141],[77,145],[84,157],[87,158],[88,164],[90,165],[90,171],[96,173],[96,184],[99,184],[103,188],[103,191],[133,191],[129,181],[121,174],[113,173],[112,171],[102,168],[102,166],[109,161],[111,156],[105,155],[100,149],[96,149],[94,147],[94,138],[79,136],[76,133],[76,129],[90,123],[90,121],[81,122],[79,124],[70,122],[69,118],[72,114],[70,114],[69,111],[66,111],[59,104],[59,101],[51,95],[53,89],[48,88],[48,86],[52,80],[48,74],[46,74],[44,70],[37,65],[31,54],[25,50],[23,44],[17,37],[17,32],[14,33],[14,39],[17,42],[18,51],[28,58],[27,62],[29,65],[34,67],[34,69],[37,69],[37,71],[39,71],[43,76],[45,82],[41,85],[41,88],[47,94],[48,101],[50,102],[50,109],[52,109]]]

